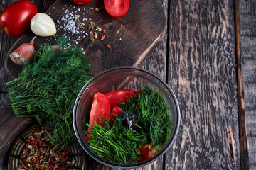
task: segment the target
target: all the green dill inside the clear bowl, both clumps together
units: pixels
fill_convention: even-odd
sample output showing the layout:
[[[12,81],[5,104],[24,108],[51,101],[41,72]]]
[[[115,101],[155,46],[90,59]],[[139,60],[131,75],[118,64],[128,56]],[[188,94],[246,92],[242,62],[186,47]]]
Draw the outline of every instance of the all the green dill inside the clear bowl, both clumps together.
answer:
[[[137,115],[136,128],[127,130],[119,119],[114,120],[112,126],[108,120],[105,120],[103,127],[95,123],[92,128],[87,124],[92,128],[89,132],[92,140],[88,143],[100,157],[117,164],[136,163],[142,145],[152,143],[152,152],[155,152],[171,137],[171,118],[161,92],[142,86],[142,94],[129,98],[119,106],[123,111],[132,111]]]

